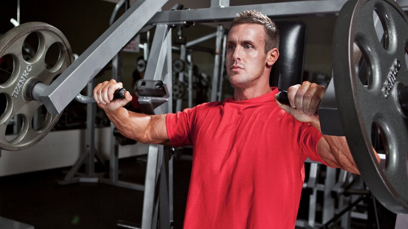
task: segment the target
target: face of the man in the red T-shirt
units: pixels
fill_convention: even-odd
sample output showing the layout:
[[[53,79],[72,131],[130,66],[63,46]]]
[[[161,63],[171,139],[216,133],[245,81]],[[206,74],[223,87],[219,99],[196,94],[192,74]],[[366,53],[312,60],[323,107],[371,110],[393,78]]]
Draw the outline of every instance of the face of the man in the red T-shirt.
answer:
[[[227,38],[226,67],[234,86],[251,86],[265,74],[265,36],[263,25],[239,24],[231,28]]]

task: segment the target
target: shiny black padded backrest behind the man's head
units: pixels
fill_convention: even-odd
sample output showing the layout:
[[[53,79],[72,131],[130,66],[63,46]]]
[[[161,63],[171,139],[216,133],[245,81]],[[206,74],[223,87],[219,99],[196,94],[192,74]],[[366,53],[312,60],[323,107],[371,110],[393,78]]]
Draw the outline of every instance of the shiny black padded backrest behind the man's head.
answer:
[[[301,84],[306,49],[306,25],[301,21],[276,21],[280,32],[279,58],[272,66],[269,84],[280,90]]]

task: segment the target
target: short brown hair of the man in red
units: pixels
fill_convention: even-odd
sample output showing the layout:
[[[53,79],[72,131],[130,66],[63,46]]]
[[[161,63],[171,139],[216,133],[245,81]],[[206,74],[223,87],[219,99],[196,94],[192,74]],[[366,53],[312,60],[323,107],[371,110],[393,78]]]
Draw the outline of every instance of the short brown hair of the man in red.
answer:
[[[275,23],[270,20],[266,15],[262,14],[258,10],[245,10],[241,13],[237,13],[231,27],[240,24],[259,24],[265,25],[265,53],[273,48],[279,49],[279,30]]]

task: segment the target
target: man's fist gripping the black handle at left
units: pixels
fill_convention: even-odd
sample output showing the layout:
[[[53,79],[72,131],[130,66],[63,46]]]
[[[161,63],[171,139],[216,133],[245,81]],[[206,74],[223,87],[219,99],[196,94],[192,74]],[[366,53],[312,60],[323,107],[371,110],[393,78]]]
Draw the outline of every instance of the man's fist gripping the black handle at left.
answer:
[[[132,96],[128,91],[126,91],[124,99],[113,100],[115,90],[122,87],[122,83],[116,82],[115,79],[99,83],[93,89],[93,98],[100,108],[106,111],[116,111],[132,101]]]

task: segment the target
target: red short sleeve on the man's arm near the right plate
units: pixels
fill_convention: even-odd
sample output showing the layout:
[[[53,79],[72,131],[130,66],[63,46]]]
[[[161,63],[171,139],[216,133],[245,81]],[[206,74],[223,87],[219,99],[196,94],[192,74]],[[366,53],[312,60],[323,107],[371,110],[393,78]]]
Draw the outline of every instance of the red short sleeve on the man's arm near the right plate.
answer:
[[[321,159],[318,154],[318,144],[322,135],[319,130],[310,125],[309,123],[302,123],[299,132],[299,146],[302,149],[302,154],[306,157],[309,157],[312,161],[321,162],[324,165],[327,165],[326,162]]]

